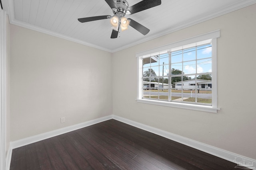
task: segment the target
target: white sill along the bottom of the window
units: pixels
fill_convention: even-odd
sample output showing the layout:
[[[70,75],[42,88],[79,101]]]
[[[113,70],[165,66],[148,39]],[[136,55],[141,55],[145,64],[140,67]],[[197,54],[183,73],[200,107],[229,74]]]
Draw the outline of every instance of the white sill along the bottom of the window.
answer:
[[[196,104],[165,102],[165,101],[147,100],[147,99],[136,99],[136,100],[137,102],[140,102],[140,103],[155,104],[155,105],[168,106],[168,107],[178,107],[183,109],[192,109],[192,110],[199,110],[199,111],[207,111],[212,113],[217,113],[217,110],[220,110],[220,108],[214,108],[212,106],[202,106],[202,105],[196,105]]]

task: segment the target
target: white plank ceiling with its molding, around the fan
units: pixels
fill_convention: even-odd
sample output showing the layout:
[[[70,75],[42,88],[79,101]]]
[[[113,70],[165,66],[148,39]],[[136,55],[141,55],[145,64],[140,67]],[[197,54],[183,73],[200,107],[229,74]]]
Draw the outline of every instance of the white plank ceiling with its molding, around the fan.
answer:
[[[141,0],[127,1],[132,6]],[[109,19],[86,23],[77,20],[112,16],[112,9],[105,0],[2,0],[2,3],[12,24],[116,52],[255,4],[256,0],[162,0],[160,6],[126,15],[126,18],[132,18],[150,29],[147,35],[129,26],[116,39],[110,39],[112,29]]]

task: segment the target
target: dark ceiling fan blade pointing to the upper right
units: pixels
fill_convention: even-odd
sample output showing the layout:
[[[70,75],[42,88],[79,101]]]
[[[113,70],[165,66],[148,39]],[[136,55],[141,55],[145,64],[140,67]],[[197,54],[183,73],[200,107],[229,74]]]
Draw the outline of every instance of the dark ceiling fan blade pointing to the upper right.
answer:
[[[137,4],[130,6],[126,10],[126,14],[134,14],[149,8],[153,8],[161,4],[161,0],[142,0]]]

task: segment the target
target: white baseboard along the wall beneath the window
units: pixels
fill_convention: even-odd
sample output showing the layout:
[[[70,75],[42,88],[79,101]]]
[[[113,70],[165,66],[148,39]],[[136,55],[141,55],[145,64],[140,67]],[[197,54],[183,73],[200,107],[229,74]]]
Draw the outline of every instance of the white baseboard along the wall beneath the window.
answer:
[[[255,168],[256,167],[256,160],[251,159],[251,158],[247,158],[246,156],[242,156],[242,155],[239,155],[239,154],[235,154],[235,153],[229,152],[227,150],[223,150],[223,149],[219,149],[219,148],[216,148],[216,147],[212,147],[210,145],[206,145],[204,143],[200,143],[200,142],[194,141],[192,139],[188,139],[188,138],[185,138],[185,137],[182,137],[182,136],[179,136],[179,135],[175,135],[175,134],[167,132],[167,131],[162,131],[160,129],[156,129],[154,127],[150,127],[148,125],[144,125],[142,123],[131,121],[129,119],[125,119],[123,117],[119,117],[119,116],[116,116],[116,115],[113,115],[113,119],[121,121],[121,122],[126,123],[128,125],[132,125],[134,127],[138,127],[140,129],[143,129],[145,131],[154,133],[156,135],[165,137],[165,138],[170,139],[172,141],[176,141],[178,143],[182,143],[184,145],[187,145],[189,147],[192,147],[192,148],[201,150],[203,152],[212,154],[214,156],[218,156],[218,157],[223,158],[225,160],[228,160],[230,162],[237,163],[237,162],[235,162],[236,158],[237,157],[238,158],[242,158],[243,160],[245,160],[245,161],[247,161],[247,162],[249,162],[249,163],[251,163],[253,165],[253,166],[247,166],[248,168],[256,170],[256,168]]]

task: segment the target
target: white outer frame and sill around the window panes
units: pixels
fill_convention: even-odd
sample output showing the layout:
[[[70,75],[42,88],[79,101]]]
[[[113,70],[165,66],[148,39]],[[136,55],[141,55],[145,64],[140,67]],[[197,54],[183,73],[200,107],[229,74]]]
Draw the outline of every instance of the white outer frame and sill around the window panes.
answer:
[[[220,108],[217,107],[217,38],[220,37],[220,30],[212,31],[210,33],[198,35],[189,39],[184,39],[182,41],[177,41],[168,45],[150,49],[147,51],[142,51],[136,53],[137,57],[137,102],[145,104],[155,104],[160,106],[170,106],[178,107],[184,109],[193,109],[199,111],[208,111],[212,113],[217,113]],[[212,41],[212,106],[204,106],[198,104],[188,104],[188,103],[178,103],[178,102],[168,102],[161,100],[150,100],[142,98],[142,61],[146,57],[160,55],[160,53],[167,53],[171,49],[190,45],[200,41],[206,41],[211,39]],[[169,63],[170,64],[170,63]]]

